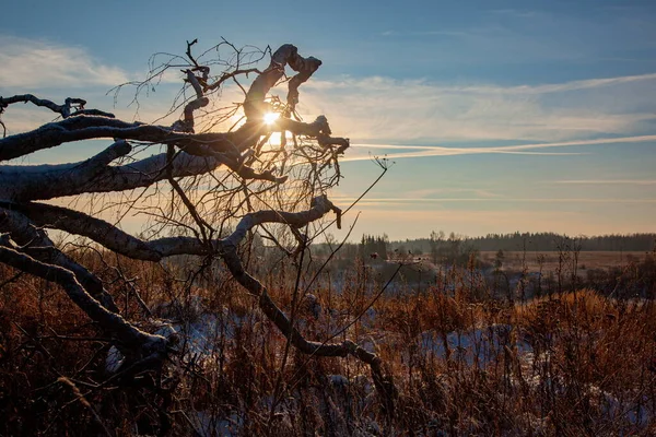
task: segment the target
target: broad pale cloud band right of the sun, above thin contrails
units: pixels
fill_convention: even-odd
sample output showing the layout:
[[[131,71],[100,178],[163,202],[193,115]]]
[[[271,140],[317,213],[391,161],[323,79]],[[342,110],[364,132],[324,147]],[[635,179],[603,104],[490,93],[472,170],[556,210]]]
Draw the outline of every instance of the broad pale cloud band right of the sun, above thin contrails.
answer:
[[[653,133],[656,73],[515,86],[342,78],[309,81],[301,102],[355,142],[587,140]]]

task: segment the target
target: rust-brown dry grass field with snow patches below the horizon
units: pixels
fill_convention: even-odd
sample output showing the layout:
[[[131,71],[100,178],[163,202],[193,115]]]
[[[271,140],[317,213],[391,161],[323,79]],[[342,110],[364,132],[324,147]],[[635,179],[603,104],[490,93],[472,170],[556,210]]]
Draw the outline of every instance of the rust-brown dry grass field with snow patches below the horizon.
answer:
[[[349,338],[380,356],[393,402],[361,362],[288,349],[220,265],[198,272],[195,259],[75,256],[99,272],[124,314],[175,338],[181,359],[159,380],[117,383],[124,357],[58,286],[1,267],[0,435],[656,434],[656,271],[637,255],[631,267],[626,253],[624,263],[581,253],[588,269],[614,262],[623,276],[594,290],[566,270],[560,293],[543,286],[540,296],[522,296],[523,279],[512,275],[514,290],[495,288],[494,270],[476,265],[336,259],[317,274],[317,258],[298,274],[289,261],[258,261],[308,339]],[[514,259],[506,255],[507,272],[518,270]]]

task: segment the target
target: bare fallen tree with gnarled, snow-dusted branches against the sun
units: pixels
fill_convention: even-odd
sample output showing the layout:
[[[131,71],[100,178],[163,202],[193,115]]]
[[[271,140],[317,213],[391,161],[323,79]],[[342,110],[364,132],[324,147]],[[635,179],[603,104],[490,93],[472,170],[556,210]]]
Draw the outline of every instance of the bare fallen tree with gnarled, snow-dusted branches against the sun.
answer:
[[[341,210],[326,194],[339,181],[339,156],[349,147],[349,140],[332,137],[326,117],[305,122],[296,113],[298,88],[321,61],[301,56],[292,45],[246,57],[224,42],[218,47],[227,46],[233,56],[219,62],[223,71],[212,74],[216,62],[195,58],[195,44],[187,44],[186,57],[171,58],[153,68],[145,81],[133,84],[139,95],[166,71],[179,69],[183,61],[184,87],[172,106],[181,117],[171,126],[124,121],[110,113],[85,108],[82,98],[56,104],[31,94],[0,97],[0,114],[12,105],[28,103],[60,116],[35,130],[1,139],[0,161],[83,140],[110,143],[77,163],[0,166],[0,262],[59,284],[104,334],[110,334],[127,358],[122,376],[130,377],[161,368],[166,358],[175,356],[175,345],[171,339],[145,332],[121,317],[97,275],[58,248],[48,232],[81,236],[137,260],[160,262],[176,255],[221,259],[289,344],[314,356],[351,355],[368,364],[391,412],[394,387],[383,373],[380,359],[348,340],[306,340],[293,317],[285,315],[248,272],[239,253],[256,229],[282,248],[268,228],[276,225],[286,227],[295,238],[296,248],[289,255],[298,257],[312,239],[308,224],[330,212],[340,223]],[[269,55],[268,68],[257,70],[257,60]],[[286,68],[293,76],[285,75]],[[255,79],[246,88],[241,81],[248,75]],[[281,82],[288,85],[284,102],[270,96],[271,88]],[[221,110],[208,109],[216,107],[227,83],[238,85],[243,102]],[[271,115],[278,118],[273,120]],[[213,131],[231,117],[241,119],[223,132]],[[271,145],[271,139],[278,141]],[[157,147],[161,153],[140,157],[143,151]],[[116,192],[130,193],[130,201],[112,203],[103,198],[98,211],[141,208],[156,226],[157,232],[152,233],[155,237],[138,237],[122,231],[120,221],[52,204],[63,197],[89,200]],[[156,202],[139,206],[138,201],[148,203],[153,197]],[[125,211],[117,214],[125,215]]]

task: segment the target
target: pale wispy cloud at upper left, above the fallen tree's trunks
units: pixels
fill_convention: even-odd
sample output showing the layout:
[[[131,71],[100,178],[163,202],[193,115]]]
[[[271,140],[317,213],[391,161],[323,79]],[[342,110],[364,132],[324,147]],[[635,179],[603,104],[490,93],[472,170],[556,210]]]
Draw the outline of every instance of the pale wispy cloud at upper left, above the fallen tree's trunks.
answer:
[[[167,60],[163,55],[154,63]],[[139,104],[133,102],[136,86],[125,86],[116,95],[106,94],[110,87],[147,76],[147,71],[133,72],[107,64],[82,46],[0,34],[0,95],[32,93],[56,103],[62,103],[66,97],[83,97],[89,102],[89,107],[110,110],[126,120],[172,123],[180,117],[181,108],[164,119],[160,118],[168,113],[173,98],[184,85],[178,68],[168,69],[155,78],[153,86],[163,92],[153,93],[151,87],[145,87],[145,93],[139,96]],[[222,101],[212,101],[207,110],[218,110],[229,102],[243,99],[236,86],[222,91]],[[56,115],[33,105],[13,105],[2,114],[2,118],[8,133],[14,134],[52,121]],[[215,127],[223,130],[229,128],[230,121]]]

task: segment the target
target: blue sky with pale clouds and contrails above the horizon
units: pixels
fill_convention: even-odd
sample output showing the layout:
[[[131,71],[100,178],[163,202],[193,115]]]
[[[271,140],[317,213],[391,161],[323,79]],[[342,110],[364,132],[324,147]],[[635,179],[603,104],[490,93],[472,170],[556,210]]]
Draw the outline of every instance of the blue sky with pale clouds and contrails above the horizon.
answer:
[[[113,86],[154,52],[292,43],[323,60],[300,113],[351,139],[330,193],[347,218],[391,239],[432,231],[656,232],[656,2],[10,1],[0,28],[0,95],[33,93],[134,117]],[[139,110],[154,120],[166,87]],[[226,96],[226,98],[230,96]],[[11,107],[10,133],[52,115]],[[104,144],[105,146],[107,144]],[[30,164],[72,162],[94,145]],[[339,237],[341,234],[335,232]]]

